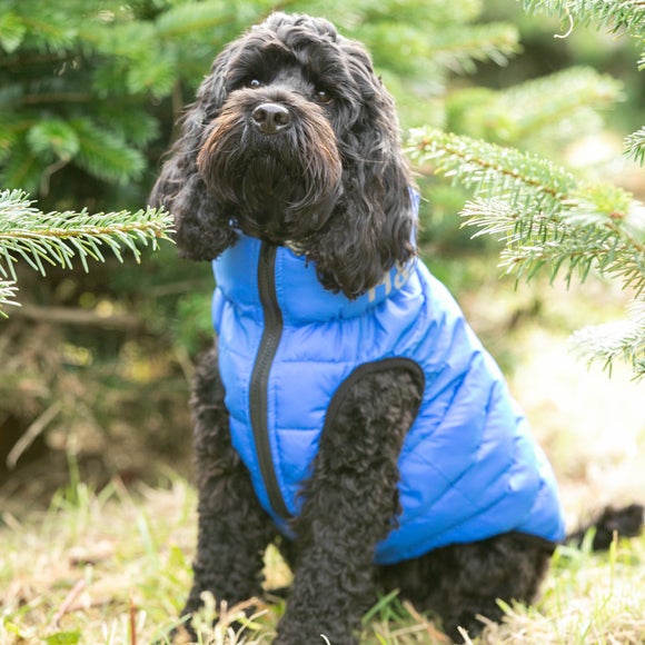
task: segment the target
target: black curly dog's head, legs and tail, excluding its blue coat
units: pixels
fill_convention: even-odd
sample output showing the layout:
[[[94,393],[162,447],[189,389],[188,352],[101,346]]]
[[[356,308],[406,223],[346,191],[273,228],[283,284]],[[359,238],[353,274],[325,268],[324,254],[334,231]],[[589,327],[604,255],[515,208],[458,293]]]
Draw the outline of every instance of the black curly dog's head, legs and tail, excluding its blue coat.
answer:
[[[215,60],[150,201],[173,212],[182,257],[218,258],[244,234],[299,250],[325,289],[355,300],[413,258],[413,185],[394,102],[364,48],[326,20],[275,13]],[[217,349],[209,353],[192,398],[199,536],[183,614],[205,591],[229,606],[261,595],[275,540],[295,572],[282,645],[322,643],[322,634],[357,643],[378,591],[400,589],[457,641],[458,627],[482,629],[478,615],[502,618],[498,598],[532,602],[555,545],[522,533],[373,563],[399,510],[397,458],[421,387],[396,366],[356,379],[321,435],[290,520],[295,538],[285,539],[231,444]],[[641,523],[638,506],[609,512],[598,546]]]

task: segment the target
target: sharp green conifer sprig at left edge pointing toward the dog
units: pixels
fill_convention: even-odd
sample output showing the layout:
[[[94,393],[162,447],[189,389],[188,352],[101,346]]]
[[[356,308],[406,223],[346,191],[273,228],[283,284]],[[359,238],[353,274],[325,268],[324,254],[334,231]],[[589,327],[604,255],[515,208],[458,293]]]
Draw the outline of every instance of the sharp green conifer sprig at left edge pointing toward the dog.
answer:
[[[88,260],[105,261],[106,251],[123,260],[123,251],[135,260],[140,245],[158,247],[169,239],[171,217],[163,210],[148,208],[137,212],[108,214],[41,212],[21,190],[0,192],[0,307],[16,294],[16,264],[27,262],[46,275],[46,266],[71,269],[79,261],[88,270]],[[11,281],[7,281],[10,278]]]

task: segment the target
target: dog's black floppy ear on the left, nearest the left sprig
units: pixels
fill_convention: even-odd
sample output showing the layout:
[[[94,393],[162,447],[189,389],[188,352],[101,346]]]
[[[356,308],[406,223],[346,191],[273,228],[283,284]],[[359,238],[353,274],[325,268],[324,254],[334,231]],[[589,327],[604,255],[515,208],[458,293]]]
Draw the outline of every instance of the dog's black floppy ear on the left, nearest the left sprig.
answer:
[[[197,170],[208,125],[226,100],[226,68],[234,50],[229,46],[215,59],[148,198],[151,206],[165,206],[175,216],[180,255],[191,260],[214,259],[237,239],[230,218],[210,197]]]

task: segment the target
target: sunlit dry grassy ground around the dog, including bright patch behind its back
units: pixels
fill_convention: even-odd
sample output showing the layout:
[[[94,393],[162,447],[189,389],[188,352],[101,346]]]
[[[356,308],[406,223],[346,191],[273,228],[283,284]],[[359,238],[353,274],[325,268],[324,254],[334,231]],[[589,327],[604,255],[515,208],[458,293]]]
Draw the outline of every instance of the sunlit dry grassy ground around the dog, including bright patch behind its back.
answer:
[[[516,301],[530,300],[539,288],[524,290]],[[493,297],[483,285],[466,298],[467,309],[484,311],[475,327],[493,350],[513,351],[518,363],[512,388],[554,463],[572,525],[605,503],[645,499],[644,385],[619,369],[612,379],[587,371],[567,349],[569,329],[597,321],[599,310],[619,315],[621,297],[597,289],[589,302],[588,288],[585,297],[556,288],[537,322],[496,336],[492,330],[503,327],[499,318],[509,310],[499,291]],[[95,493],[72,468],[70,485],[47,513],[6,510],[0,518],[1,644],[147,644],[176,624],[190,585],[196,533],[195,492],[180,477],[169,475],[167,486],[156,489],[132,492],[113,482]],[[270,550],[269,585],[281,586],[288,576]],[[241,635],[227,625],[239,607],[215,629],[206,626],[207,608],[202,642],[268,643],[282,608],[279,602],[258,603]],[[506,613],[505,624],[488,626],[478,643],[645,643],[645,537],[601,555],[558,549],[537,606]],[[429,617],[396,595],[366,616],[363,641],[446,642]]]

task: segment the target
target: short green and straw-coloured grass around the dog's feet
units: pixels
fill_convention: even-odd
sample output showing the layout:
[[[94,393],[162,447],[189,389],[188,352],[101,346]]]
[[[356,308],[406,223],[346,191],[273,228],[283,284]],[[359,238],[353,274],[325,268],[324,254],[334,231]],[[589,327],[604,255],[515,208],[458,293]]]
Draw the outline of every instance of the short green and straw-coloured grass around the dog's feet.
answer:
[[[93,493],[77,482],[50,509],[24,522],[4,514],[0,530],[0,643],[152,643],[177,624],[190,585],[195,492],[172,477],[166,488],[128,492],[115,482]],[[269,586],[288,578],[274,550]],[[241,634],[202,616],[202,642],[268,643],[282,604],[255,605]],[[490,625],[479,643],[645,643],[645,537],[607,554],[559,548],[536,607],[506,607],[507,622]],[[383,598],[364,621],[364,642],[445,643],[436,624],[401,603]],[[322,643],[322,641],[321,641]]]

